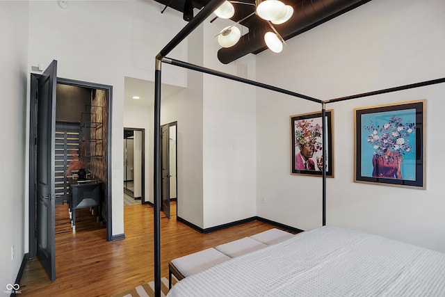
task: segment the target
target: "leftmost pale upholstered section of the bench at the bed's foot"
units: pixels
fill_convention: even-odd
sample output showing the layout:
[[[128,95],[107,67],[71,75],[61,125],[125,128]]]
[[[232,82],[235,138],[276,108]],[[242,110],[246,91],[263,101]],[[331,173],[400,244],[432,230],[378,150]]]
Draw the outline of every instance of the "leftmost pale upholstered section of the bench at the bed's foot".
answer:
[[[177,280],[182,280],[187,276],[193,275],[204,269],[215,266],[221,262],[230,259],[227,255],[214,248],[207,248],[200,250],[190,255],[185,255],[176,259],[172,259],[168,263],[168,287],[172,287],[172,275],[175,275]]]

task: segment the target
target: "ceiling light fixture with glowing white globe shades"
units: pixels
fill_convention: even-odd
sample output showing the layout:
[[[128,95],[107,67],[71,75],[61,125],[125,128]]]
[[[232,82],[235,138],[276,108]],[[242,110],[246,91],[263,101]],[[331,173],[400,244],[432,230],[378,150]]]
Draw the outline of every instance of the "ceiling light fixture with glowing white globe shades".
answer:
[[[255,6],[255,11],[244,17],[243,19],[236,22],[239,24],[243,22],[248,17],[252,15],[258,15],[261,19],[264,19],[268,22],[269,26],[273,29],[274,32],[267,32],[264,35],[264,42],[266,42],[267,47],[274,51],[275,53],[279,53],[283,49],[284,39],[277,32],[273,24],[283,24],[287,22],[293,15],[292,6],[284,4],[280,0],[255,0],[255,3],[246,3],[240,1],[225,1],[218,7],[213,13],[220,18],[229,19],[234,16],[235,9],[232,3],[245,4]],[[213,22],[213,21],[212,21]],[[238,40],[241,38],[241,32],[235,26],[225,27],[218,35],[218,43],[221,47],[233,47],[236,45]]]

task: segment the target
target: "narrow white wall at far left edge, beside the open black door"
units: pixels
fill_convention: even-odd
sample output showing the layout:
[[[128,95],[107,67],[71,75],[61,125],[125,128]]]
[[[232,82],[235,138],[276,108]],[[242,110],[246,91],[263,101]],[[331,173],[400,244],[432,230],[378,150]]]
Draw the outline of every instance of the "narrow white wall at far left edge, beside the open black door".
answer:
[[[29,197],[25,168],[28,159],[26,130],[29,111],[26,109],[26,81],[29,68],[26,65],[28,51],[28,3],[0,1],[0,72],[1,103],[0,146],[0,288],[15,284],[20,264],[28,251],[28,210],[25,201]],[[12,259],[11,248],[15,256]]]

